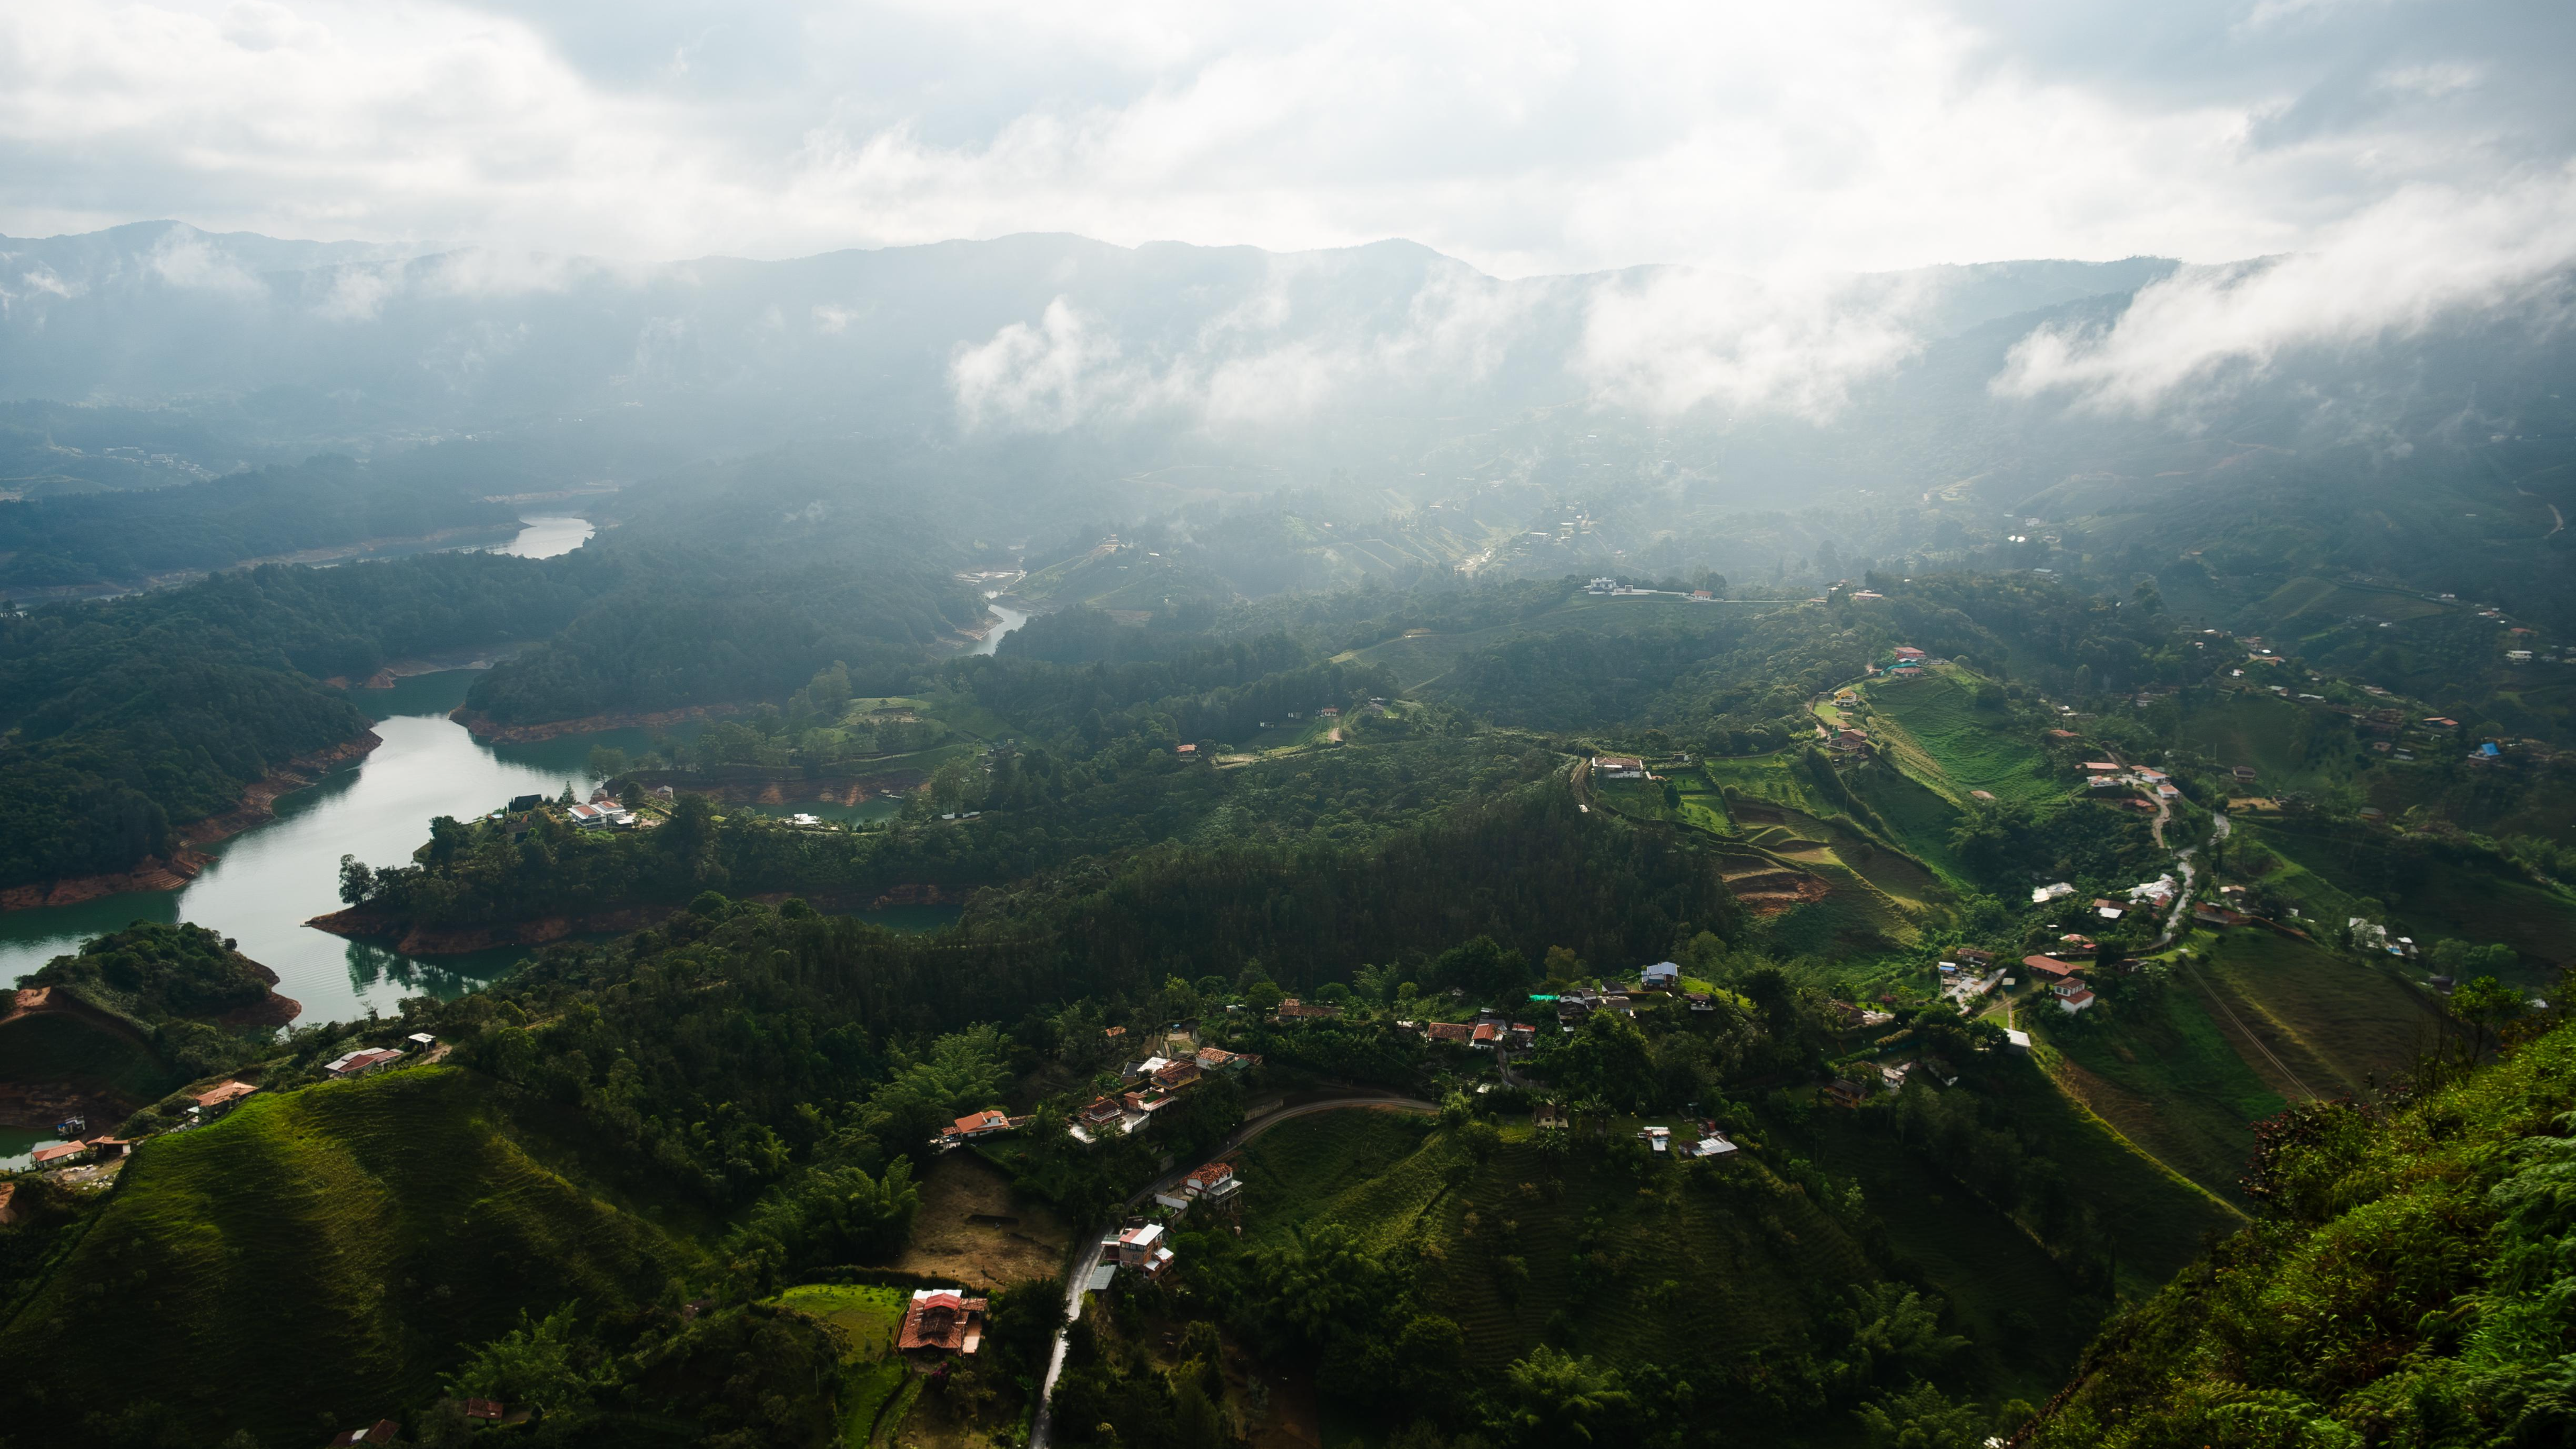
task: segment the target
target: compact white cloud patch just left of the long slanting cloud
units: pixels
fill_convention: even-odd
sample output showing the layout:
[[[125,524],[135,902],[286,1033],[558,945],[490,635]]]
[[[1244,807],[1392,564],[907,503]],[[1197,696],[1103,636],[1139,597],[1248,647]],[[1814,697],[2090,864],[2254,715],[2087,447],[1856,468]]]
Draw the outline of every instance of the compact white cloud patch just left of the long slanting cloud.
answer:
[[[1577,369],[1602,402],[1641,413],[1713,405],[1824,423],[1855,384],[1922,351],[1927,302],[1919,286],[1656,271],[1595,291]]]

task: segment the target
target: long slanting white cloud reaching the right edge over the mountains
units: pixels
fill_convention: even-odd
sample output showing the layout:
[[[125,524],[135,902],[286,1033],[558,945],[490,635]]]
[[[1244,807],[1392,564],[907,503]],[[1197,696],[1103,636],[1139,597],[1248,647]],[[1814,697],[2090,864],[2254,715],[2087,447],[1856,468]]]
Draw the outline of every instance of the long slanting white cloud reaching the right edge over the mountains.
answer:
[[[2316,250],[2184,268],[2110,325],[2022,338],[1991,392],[2154,413],[2267,376],[2282,358],[2421,335],[2463,315],[2563,320],[2576,268],[2576,165],[2499,191],[2416,186]]]

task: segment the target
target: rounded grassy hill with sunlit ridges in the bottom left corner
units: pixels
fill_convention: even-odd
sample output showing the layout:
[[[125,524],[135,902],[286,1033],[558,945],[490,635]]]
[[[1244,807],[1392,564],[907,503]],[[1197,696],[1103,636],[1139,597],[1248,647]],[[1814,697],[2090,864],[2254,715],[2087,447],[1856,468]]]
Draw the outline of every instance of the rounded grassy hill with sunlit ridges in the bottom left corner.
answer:
[[[657,1297],[690,1250],[595,1201],[528,1142],[456,1067],[250,1098],[137,1155],[0,1328],[0,1359],[44,1361],[64,1387],[160,1397],[196,1441],[232,1428],[319,1439],[433,1397],[438,1374],[520,1307]],[[232,1418],[201,1421],[216,1400]],[[70,1441],[88,1408],[49,1395],[26,1423]]]

